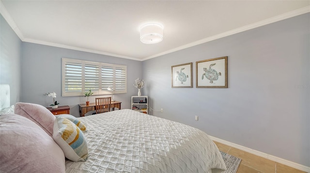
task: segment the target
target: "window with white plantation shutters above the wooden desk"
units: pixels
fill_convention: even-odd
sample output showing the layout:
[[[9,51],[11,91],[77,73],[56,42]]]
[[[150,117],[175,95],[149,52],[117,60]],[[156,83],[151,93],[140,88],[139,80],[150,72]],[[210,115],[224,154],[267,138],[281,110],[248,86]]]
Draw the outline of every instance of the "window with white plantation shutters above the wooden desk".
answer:
[[[127,66],[62,58],[62,96],[110,94],[108,87],[127,93]]]

